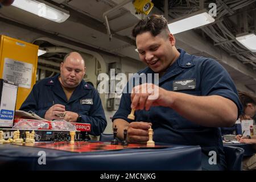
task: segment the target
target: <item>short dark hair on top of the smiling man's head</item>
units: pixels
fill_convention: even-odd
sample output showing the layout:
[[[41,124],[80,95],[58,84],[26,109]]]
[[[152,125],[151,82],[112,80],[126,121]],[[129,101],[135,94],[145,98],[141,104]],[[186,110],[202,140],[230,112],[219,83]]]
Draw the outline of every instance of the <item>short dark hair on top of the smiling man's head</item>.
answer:
[[[167,35],[170,34],[166,18],[163,15],[156,14],[140,20],[133,28],[132,35],[136,38],[137,35],[148,31],[151,32],[152,36],[159,35],[162,31],[166,31]]]

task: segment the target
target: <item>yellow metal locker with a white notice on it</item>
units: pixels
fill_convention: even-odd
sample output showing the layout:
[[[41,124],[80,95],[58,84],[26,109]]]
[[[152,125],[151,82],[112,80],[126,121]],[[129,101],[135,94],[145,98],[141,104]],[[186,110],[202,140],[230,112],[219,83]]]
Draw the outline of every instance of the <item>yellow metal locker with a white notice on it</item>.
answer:
[[[16,109],[36,82],[38,46],[0,35],[0,78],[19,84]]]

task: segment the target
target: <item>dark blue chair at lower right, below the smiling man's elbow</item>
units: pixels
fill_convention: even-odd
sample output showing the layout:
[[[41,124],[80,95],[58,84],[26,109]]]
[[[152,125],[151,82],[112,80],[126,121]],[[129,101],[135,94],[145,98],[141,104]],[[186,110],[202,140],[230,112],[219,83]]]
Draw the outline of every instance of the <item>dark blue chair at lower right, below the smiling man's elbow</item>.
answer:
[[[228,171],[241,171],[245,150],[240,147],[223,146]]]

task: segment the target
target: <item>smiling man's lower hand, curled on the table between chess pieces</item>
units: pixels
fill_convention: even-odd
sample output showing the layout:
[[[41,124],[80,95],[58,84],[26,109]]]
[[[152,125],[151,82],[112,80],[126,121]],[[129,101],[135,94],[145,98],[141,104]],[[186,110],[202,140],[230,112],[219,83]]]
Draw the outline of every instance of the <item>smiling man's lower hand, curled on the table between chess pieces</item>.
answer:
[[[127,141],[130,143],[146,143],[148,141],[148,129],[152,123],[131,122],[127,128]]]

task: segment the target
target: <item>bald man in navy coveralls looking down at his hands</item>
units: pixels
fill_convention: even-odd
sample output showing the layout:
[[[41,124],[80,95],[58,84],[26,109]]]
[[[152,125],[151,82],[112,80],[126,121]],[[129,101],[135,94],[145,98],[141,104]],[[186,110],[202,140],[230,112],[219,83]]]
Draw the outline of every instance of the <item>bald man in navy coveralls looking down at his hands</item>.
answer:
[[[79,53],[68,53],[60,64],[60,74],[36,83],[20,110],[48,120],[90,123],[90,134],[100,135],[107,125],[105,113],[97,90],[82,80],[85,69]]]

